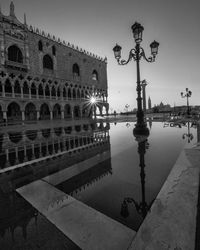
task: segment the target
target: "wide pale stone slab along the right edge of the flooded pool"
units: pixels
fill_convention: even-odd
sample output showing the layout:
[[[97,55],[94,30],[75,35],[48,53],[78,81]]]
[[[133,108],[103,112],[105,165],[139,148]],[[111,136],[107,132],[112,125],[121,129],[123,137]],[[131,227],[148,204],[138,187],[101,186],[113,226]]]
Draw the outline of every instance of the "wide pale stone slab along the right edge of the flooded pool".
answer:
[[[199,170],[199,150],[185,148],[129,250],[195,249]]]

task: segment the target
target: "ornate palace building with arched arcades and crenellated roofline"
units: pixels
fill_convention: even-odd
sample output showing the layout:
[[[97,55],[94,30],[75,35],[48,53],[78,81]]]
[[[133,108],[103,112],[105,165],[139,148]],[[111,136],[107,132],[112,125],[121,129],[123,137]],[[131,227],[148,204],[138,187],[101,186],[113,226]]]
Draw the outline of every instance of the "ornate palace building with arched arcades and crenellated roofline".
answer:
[[[44,120],[108,111],[107,62],[0,12],[0,119]]]

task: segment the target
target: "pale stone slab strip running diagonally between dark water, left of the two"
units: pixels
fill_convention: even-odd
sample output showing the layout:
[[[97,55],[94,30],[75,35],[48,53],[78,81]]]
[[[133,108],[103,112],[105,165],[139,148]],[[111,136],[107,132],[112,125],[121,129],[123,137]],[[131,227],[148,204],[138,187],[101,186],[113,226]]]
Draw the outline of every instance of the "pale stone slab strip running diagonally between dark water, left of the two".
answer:
[[[125,250],[135,235],[130,228],[43,180],[17,192],[83,250]]]

